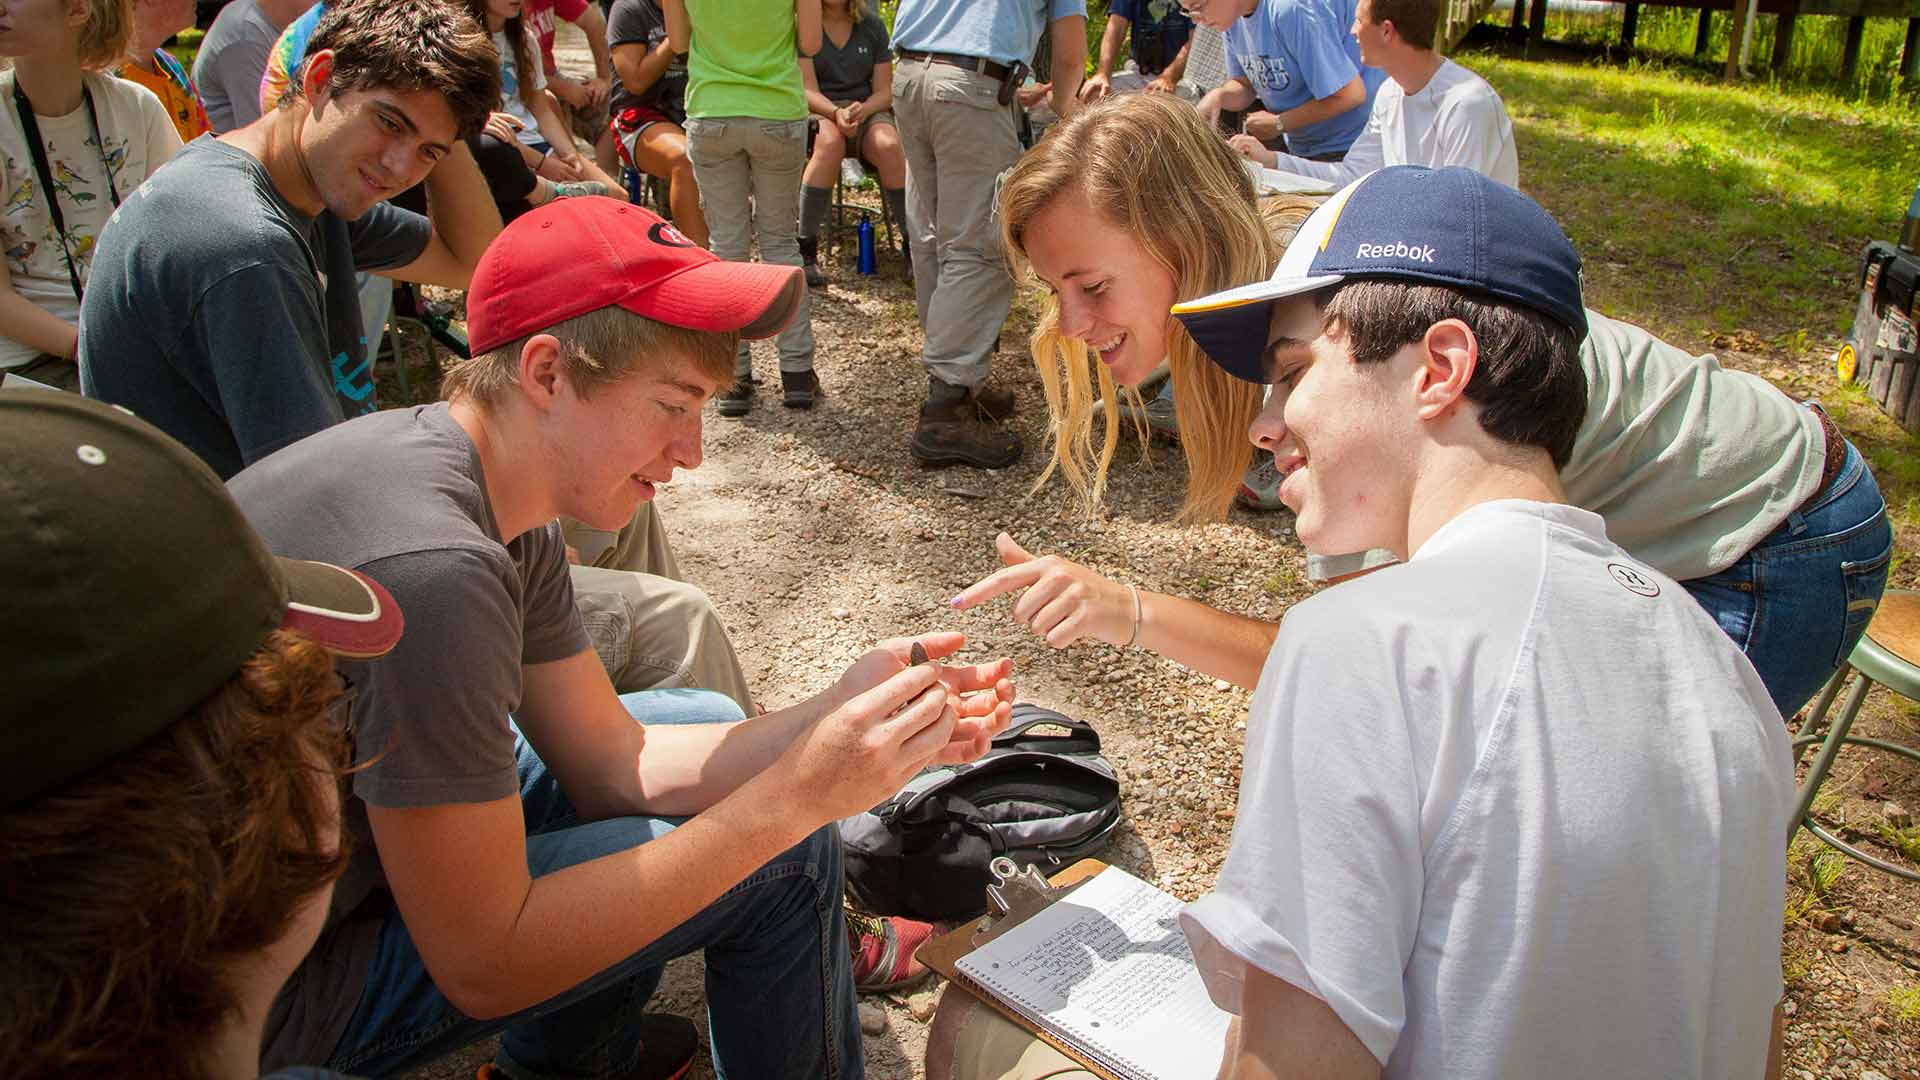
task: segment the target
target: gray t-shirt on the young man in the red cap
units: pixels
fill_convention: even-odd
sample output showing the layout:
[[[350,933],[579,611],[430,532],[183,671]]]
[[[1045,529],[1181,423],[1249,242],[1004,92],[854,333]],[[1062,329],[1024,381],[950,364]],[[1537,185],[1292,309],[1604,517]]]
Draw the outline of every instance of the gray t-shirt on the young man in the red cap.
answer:
[[[376,479],[376,480],[374,480]],[[303,438],[228,490],[275,553],[353,567],[399,601],[407,630],[351,680],[353,759],[342,807],[353,861],[326,930],[267,1022],[265,1065],[326,1061],[392,913],[367,803],[482,803],[518,792],[520,671],[586,651],[559,523],[503,538],[480,452],[445,404],[357,417]]]

